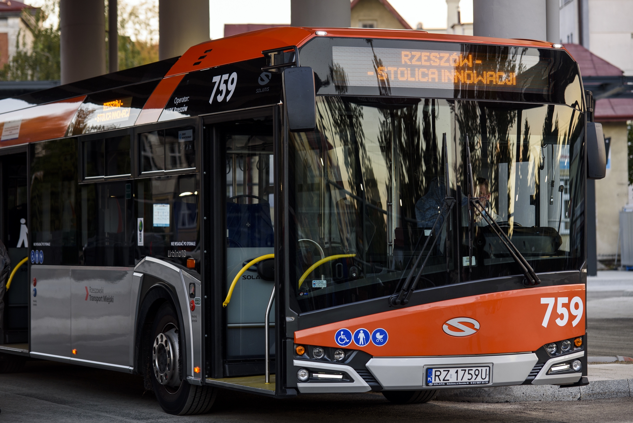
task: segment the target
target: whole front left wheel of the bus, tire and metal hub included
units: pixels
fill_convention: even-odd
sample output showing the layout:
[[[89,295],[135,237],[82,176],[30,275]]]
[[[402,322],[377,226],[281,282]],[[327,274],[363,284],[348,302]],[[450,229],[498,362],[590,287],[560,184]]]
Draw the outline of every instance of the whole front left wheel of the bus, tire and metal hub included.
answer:
[[[216,389],[187,382],[181,355],[184,336],[179,326],[172,305],[163,303],[154,318],[153,338],[149,345],[152,387],[166,413],[203,414],[211,409]]]

